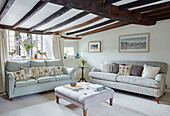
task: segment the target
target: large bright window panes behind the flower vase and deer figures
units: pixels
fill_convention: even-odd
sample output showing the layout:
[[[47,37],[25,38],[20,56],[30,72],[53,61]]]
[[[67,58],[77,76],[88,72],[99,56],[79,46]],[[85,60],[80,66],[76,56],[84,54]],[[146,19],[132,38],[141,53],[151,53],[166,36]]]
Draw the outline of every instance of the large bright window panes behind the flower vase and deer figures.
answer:
[[[32,41],[37,41],[35,47],[32,48],[33,54],[37,54],[38,50],[42,50],[42,35],[36,35],[36,34],[27,34],[27,33],[20,33],[15,31],[8,31],[8,45],[9,45],[9,51],[12,51],[12,49],[17,50],[17,55],[19,56],[25,56],[26,50],[23,46],[17,45],[17,34],[20,34],[21,40],[24,41],[28,36],[31,36]]]

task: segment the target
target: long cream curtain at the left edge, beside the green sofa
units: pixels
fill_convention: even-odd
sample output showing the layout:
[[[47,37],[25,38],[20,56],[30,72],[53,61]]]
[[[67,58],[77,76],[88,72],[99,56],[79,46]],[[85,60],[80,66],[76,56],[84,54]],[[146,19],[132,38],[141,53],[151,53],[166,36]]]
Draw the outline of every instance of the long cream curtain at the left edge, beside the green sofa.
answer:
[[[5,62],[8,59],[7,30],[0,29],[0,93],[5,91]]]

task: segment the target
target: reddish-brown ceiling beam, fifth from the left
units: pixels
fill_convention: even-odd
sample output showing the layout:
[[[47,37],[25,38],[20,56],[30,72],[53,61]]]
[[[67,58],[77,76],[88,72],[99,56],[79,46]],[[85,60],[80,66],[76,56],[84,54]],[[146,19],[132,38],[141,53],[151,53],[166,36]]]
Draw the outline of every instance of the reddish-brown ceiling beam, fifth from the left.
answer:
[[[97,22],[99,20],[103,19],[102,17],[95,17],[93,19],[90,19],[84,23],[81,23],[81,24],[78,24],[78,25],[75,25],[73,27],[70,27],[70,28],[66,28],[66,29],[63,29],[63,30],[59,30],[57,31],[56,33],[64,33],[66,31],[70,31],[70,30],[73,30],[73,29],[77,29],[77,28],[80,28],[80,27],[83,27],[83,26],[86,26],[86,25],[89,25],[89,24],[92,24],[94,22]]]

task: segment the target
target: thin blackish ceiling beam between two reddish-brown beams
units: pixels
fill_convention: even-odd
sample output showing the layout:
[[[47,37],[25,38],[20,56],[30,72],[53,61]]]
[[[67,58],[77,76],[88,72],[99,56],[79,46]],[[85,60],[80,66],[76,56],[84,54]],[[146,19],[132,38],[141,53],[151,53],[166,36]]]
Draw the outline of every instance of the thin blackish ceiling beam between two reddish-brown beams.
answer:
[[[103,25],[107,25],[107,24],[112,23],[112,22],[114,22],[114,21],[107,20],[107,21],[104,21],[102,23],[99,23],[99,24],[96,24],[96,25],[93,25],[93,26],[90,26],[90,27],[86,27],[84,29],[80,29],[80,30],[77,30],[77,31],[73,31],[73,32],[67,33],[67,35],[71,35],[71,34],[75,34],[75,33],[80,33],[80,32],[83,32],[83,31],[87,31],[87,30],[90,30],[90,29],[101,27]]]

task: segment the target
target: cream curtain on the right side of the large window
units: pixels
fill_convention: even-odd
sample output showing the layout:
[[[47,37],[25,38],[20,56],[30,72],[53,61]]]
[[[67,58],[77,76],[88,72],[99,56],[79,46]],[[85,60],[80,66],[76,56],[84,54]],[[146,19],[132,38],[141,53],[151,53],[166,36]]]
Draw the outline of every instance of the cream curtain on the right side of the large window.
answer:
[[[64,65],[64,39],[60,35],[52,35],[52,51],[54,59],[61,59]]]

